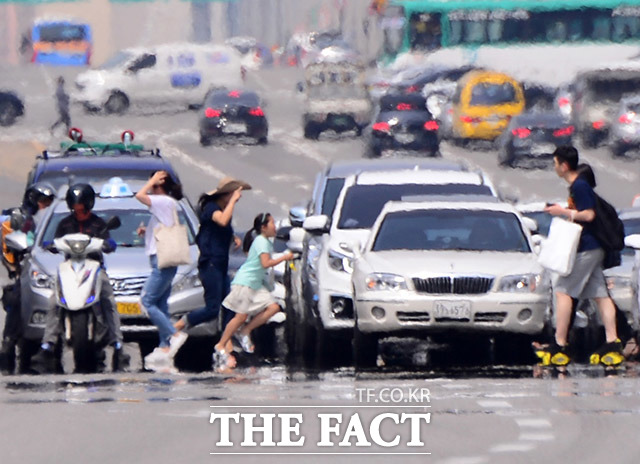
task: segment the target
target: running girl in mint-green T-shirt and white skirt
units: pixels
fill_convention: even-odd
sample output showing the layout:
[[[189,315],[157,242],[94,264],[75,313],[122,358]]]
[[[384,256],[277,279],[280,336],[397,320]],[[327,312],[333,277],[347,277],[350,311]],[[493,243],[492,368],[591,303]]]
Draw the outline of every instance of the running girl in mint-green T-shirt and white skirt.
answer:
[[[254,352],[251,332],[280,311],[280,306],[271,295],[268,269],[283,261],[293,259],[287,252],[273,259],[273,238],[276,236],[276,225],[269,213],[258,214],[253,221],[253,228],[244,237],[243,249],[248,252],[244,262],[233,281],[231,292],[222,305],[234,311],[236,315],[225,327],[213,352],[214,369],[220,370],[234,367],[235,359],[231,356],[228,343],[235,337],[242,349],[247,353]],[[255,237],[255,238],[254,238]],[[251,316],[249,323],[245,325]]]

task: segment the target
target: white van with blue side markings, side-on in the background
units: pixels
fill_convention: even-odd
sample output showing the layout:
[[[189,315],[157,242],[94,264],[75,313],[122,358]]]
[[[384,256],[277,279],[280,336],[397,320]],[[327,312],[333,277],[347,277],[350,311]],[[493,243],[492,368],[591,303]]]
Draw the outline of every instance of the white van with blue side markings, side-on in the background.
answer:
[[[130,106],[199,105],[212,87],[241,87],[243,76],[242,56],[227,45],[129,48],[79,74],[72,99],[114,114]]]

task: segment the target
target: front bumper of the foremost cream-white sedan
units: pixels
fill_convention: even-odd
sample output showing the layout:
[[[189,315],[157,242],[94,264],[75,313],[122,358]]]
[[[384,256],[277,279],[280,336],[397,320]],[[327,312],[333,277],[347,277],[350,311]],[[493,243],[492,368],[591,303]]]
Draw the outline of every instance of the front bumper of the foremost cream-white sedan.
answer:
[[[470,306],[469,318],[451,316],[436,319],[435,305],[440,301],[454,304],[466,302]],[[361,332],[381,335],[405,331],[438,333],[448,330],[534,335],[542,331],[549,305],[550,295],[542,294],[488,293],[427,297],[403,292],[397,298],[390,298],[388,293],[381,295],[379,292],[371,292],[357,296],[355,311]],[[384,312],[382,316],[381,309]]]

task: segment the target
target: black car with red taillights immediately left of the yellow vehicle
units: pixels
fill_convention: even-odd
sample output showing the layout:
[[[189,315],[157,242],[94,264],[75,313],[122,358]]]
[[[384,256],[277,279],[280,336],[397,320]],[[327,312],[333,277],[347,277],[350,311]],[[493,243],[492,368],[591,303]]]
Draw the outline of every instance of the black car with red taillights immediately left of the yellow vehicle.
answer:
[[[439,124],[420,94],[385,95],[368,130],[366,156],[379,157],[384,150],[411,150],[439,156]]]

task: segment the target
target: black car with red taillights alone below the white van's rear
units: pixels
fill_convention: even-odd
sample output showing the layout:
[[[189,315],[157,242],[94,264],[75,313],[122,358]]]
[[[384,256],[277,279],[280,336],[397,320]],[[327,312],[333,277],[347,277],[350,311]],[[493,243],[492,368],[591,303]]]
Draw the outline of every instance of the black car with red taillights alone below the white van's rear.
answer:
[[[226,136],[246,136],[259,144],[266,144],[269,133],[260,97],[255,92],[244,90],[210,92],[204,99],[199,125],[202,146]]]

